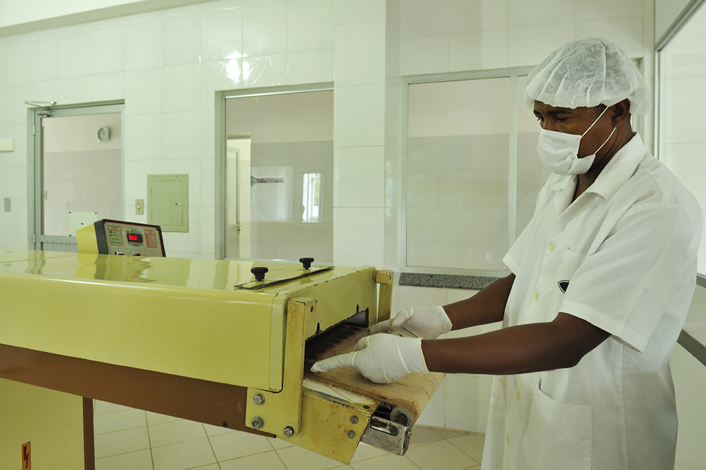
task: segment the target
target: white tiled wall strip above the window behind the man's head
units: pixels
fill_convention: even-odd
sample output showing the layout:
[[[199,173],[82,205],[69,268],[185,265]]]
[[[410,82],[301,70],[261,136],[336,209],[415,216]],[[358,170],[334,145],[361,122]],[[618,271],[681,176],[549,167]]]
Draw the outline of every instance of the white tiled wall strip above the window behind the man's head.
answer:
[[[402,75],[538,64],[565,42],[598,35],[631,57],[652,50],[643,0],[402,2]],[[647,49],[645,49],[645,46]]]

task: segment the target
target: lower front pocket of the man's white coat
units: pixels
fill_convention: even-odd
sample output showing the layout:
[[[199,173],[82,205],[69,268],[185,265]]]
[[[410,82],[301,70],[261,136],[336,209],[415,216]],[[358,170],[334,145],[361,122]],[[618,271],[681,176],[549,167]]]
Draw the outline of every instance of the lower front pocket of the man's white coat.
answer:
[[[527,464],[532,470],[590,470],[593,407],[556,401],[539,383],[522,441]]]

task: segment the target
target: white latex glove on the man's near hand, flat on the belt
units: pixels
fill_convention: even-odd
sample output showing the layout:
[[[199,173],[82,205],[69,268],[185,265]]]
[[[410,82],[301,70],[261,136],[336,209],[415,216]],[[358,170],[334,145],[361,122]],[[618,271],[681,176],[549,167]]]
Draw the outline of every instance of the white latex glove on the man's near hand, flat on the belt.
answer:
[[[421,339],[392,334],[366,336],[358,341],[352,353],[320,360],[311,371],[326,372],[347,365],[378,384],[395,382],[412,372],[429,372],[421,353]]]

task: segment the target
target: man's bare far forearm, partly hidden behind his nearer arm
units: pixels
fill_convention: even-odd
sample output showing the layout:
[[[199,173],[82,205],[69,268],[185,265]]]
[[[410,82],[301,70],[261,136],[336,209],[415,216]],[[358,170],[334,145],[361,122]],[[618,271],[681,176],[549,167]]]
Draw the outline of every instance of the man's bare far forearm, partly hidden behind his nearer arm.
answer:
[[[452,329],[500,322],[514,281],[515,275],[510,274],[493,282],[471,298],[444,305],[443,309],[453,324]]]

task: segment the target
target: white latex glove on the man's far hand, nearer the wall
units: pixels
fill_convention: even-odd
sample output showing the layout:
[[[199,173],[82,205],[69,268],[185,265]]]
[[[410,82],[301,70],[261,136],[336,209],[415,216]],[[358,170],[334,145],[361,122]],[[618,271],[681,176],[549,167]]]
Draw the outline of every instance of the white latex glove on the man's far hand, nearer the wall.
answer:
[[[437,339],[451,331],[451,320],[443,307],[409,307],[397,317],[370,327],[370,334],[394,331],[401,336],[421,339]]]

